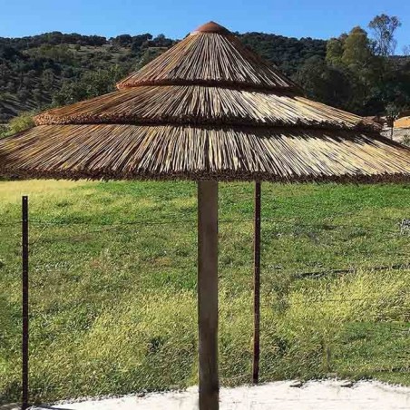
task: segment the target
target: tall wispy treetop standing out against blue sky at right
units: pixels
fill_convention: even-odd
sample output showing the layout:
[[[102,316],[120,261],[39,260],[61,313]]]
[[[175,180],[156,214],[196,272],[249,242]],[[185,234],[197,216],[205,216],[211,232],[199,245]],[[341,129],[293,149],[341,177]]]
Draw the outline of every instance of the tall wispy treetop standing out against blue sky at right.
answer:
[[[376,17],[368,24],[372,30],[375,44],[375,53],[382,57],[387,57],[395,53],[395,31],[402,24],[394,15],[376,15]]]

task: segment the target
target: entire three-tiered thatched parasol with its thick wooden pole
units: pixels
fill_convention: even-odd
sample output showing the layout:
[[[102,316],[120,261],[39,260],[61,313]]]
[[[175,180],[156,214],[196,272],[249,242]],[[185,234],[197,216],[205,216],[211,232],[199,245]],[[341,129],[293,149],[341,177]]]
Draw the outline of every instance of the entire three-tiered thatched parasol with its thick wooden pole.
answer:
[[[198,181],[200,408],[218,408],[218,181],[400,181],[410,150],[303,96],[219,24],[0,140],[0,175]]]

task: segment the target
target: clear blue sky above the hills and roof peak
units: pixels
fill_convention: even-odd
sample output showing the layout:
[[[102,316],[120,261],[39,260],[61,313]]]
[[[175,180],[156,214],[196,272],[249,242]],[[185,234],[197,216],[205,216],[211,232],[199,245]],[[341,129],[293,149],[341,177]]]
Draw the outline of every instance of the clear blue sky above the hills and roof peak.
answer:
[[[118,34],[163,33],[181,38],[214,20],[240,33],[261,31],[329,38],[377,14],[397,15],[400,52],[410,44],[409,0],[0,0],[0,36],[50,31]]]

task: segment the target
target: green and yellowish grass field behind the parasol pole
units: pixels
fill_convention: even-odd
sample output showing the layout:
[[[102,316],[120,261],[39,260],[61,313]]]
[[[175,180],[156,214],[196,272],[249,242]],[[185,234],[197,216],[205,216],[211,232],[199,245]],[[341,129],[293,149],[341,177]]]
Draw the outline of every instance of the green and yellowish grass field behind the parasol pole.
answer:
[[[22,193],[32,400],[196,384],[195,184],[0,181],[0,402],[19,399]],[[224,386],[251,379],[252,212],[253,185],[220,184]],[[404,218],[410,185],[263,184],[262,381],[410,385],[410,270],[386,268],[410,262]]]

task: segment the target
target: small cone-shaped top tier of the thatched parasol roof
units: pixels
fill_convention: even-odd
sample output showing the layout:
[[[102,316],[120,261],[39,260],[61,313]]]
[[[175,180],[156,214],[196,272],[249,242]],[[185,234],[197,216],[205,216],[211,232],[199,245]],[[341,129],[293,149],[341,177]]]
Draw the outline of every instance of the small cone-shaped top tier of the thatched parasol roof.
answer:
[[[229,31],[210,22],[117,84],[203,84],[264,90],[293,90],[295,83],[251,53]]]

